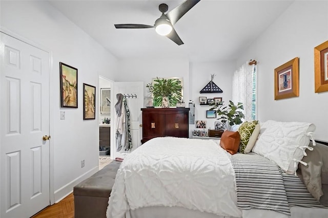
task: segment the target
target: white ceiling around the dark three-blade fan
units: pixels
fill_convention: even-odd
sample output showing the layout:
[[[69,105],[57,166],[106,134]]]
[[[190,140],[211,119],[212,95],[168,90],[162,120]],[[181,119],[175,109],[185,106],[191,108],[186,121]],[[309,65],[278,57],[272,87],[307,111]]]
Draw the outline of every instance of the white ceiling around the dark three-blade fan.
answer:
[[[201,0],[174,25],[181,46],[153,28],[115,29],[114,24],[154,25],[159,4],[170,11],[184,0],[49,2],[119,59],[223,61],[236,59],[293,1]]]

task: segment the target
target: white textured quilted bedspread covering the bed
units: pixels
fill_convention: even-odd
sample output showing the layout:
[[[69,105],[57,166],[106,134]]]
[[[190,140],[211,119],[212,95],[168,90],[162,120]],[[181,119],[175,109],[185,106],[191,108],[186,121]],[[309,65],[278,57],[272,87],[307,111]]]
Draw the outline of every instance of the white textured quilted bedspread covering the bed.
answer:
[[[212,140],[155,138],[122,162],[107,217],[147,206],[178,206],[241,217],[228,154]]]

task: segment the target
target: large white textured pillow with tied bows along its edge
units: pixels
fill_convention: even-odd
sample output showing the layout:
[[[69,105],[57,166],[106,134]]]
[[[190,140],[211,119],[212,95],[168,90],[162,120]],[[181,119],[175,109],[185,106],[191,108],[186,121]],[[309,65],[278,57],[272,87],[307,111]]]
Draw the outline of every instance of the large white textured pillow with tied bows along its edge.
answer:
[[[288,173],[296,173],[298,163],[306,156],[310,137],[316,126],[303,122],[278,122],[268,120],[261,123],[260,134],[252,151],[275,162]]]

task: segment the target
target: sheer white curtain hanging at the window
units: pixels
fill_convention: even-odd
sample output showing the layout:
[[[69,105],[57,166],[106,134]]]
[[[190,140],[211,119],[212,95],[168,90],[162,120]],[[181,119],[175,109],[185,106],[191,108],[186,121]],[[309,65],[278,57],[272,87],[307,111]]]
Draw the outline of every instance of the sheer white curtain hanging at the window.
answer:
[[[245,120],[256,119],[256,65],[242,64],[232,78],[232,101],[243,103]]]

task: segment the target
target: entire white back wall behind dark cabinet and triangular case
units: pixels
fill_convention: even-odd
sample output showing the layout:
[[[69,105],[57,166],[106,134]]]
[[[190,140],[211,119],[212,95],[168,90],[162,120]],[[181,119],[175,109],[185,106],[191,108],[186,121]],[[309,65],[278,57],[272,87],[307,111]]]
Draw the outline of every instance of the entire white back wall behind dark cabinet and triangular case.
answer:
[[[183,77],[183,95],[188,107],[189,100],[195,102],[195,120],[207,120],[207,128],[214,128],[216,119],[207,119],[208,105],[199,105],[199,96],[208,98],[222,97],[229,101],[232,96],[232,73],[235,70],[234,61],[226,62],[193,62],[186,59],[124,59],[119,60],[119,75],[117,81],[144,81],[145,86],[156,77]],[[223,90],[221,94],[199,94],[199,91],[211,80],[211,74],[216,74],[214,83]],[[145,106],[147,96],[145,88]],[[189,132],[196,125],[189,126]],[[207,130],[207,129],[206,129]]]

